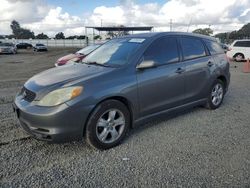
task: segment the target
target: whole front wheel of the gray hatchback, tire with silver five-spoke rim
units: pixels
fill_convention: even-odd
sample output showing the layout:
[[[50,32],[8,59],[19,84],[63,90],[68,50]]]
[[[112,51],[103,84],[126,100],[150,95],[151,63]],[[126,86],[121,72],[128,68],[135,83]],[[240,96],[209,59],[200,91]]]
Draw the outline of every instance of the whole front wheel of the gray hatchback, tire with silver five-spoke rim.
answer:
[[[96,149],[109,149],[120,144],[129,126],[128,108],[120,101],[107,100],[100,103],[90,115],[85,138]]]

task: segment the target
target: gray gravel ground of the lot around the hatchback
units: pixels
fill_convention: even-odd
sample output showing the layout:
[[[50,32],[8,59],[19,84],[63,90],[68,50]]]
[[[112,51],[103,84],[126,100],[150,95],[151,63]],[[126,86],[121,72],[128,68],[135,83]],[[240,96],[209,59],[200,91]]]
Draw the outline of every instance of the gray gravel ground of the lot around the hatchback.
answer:
[[[219,109],[149,122],[108,151],[28,136],[12,113],[13,97],[74,50],[0,55],[0,187],[250,187],[250,73],[241,63],[231,65]]]

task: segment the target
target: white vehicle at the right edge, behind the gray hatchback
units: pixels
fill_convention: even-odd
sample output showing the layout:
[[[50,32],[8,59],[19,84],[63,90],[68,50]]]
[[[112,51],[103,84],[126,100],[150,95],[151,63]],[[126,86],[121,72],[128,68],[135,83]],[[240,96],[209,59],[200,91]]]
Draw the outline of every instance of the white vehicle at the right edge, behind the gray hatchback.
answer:
[[[227,56],[237,62],[250,58],[250,40],[235,40],[229,46]]]

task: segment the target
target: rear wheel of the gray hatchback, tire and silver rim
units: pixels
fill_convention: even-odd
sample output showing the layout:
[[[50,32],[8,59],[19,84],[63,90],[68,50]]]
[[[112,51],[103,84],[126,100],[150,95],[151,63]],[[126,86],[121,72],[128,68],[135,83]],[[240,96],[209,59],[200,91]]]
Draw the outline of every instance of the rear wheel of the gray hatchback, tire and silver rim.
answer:
[[[225,84],[221,80],[217,79],[209,92],[206,107],[209,109],[219,108],[223,102],[225,95]]]

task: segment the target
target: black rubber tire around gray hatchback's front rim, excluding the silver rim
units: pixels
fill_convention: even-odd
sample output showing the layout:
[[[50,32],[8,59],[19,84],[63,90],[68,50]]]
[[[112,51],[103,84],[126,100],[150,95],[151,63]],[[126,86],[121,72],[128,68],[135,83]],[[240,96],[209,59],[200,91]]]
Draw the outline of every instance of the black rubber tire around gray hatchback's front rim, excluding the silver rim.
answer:
[[[103,143],[101,142],[96,135],[96,125],[97,121],[109,109],[118,109],[120,110],[125,118],[125,127],[122,135],[113,143]],[[117,100],[107,100],[100,103],[94,111],[91,113],[90,118],[86,125],[85,138],[92,147],[105,150],[117,146],[125,137],[130,125],[130,113],[127,107],[120,101]]]

